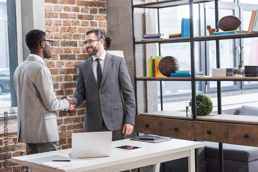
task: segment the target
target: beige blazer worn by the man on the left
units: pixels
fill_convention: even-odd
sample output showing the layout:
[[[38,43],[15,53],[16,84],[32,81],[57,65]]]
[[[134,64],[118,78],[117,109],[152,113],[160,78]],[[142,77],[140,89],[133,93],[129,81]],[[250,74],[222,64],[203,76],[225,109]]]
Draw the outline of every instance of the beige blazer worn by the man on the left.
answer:
[[[29,56],[13,75],[18,100],[18,142],[59,141],[56,111],[67,110],[67,100],[58,100],[49,69]]]

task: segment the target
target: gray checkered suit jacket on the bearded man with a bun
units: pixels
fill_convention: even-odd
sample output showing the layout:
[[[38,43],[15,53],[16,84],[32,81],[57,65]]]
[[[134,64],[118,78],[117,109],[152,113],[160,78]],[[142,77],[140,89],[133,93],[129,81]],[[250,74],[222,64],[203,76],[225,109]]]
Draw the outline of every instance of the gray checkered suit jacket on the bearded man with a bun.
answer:
[[[121,97],[124,98],[124,104]],[[75,106],[86,100],[84,131],[101,131],[102,119],[109,130],[134,125],[135,97],[125,59],[107,52],[100,88],[92,69],[92,56],[78,65]]]

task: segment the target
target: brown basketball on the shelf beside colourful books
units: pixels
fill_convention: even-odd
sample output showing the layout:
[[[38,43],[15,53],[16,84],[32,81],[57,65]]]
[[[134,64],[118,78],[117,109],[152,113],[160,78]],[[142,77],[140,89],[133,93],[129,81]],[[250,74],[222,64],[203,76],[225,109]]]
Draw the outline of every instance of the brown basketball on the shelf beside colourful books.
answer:
[[[176,70],[179,70],[179,67],[179,61],[172,56],[166,56],[159,62],[160,73],[167,77],[170,77],[170,73],[175,73]]]

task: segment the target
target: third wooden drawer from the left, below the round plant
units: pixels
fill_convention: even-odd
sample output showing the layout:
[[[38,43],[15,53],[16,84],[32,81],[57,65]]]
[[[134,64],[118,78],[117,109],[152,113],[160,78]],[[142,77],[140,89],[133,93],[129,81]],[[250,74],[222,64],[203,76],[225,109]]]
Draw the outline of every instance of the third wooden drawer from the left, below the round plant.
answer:
[[[193,121],[193,139],[228,143],[228,124],[219,122]]]

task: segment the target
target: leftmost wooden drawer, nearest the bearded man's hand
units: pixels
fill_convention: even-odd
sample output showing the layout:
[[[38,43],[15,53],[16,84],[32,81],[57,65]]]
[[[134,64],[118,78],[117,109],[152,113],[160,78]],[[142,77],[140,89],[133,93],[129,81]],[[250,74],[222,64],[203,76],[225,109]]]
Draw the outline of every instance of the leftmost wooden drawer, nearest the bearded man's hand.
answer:
[[[135,115],[135,132],[162,136],[162,118]]]

